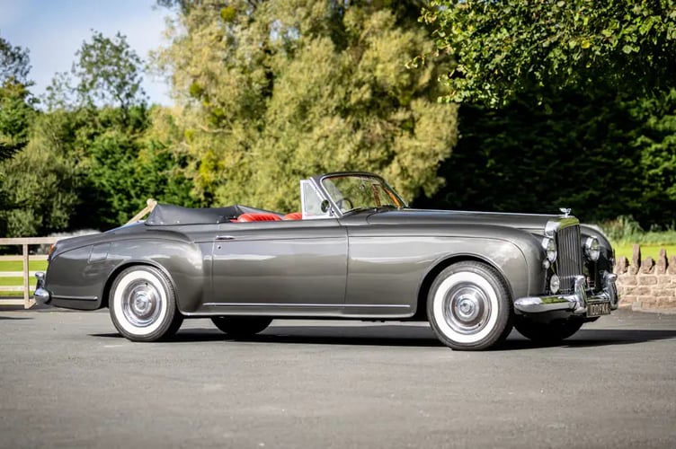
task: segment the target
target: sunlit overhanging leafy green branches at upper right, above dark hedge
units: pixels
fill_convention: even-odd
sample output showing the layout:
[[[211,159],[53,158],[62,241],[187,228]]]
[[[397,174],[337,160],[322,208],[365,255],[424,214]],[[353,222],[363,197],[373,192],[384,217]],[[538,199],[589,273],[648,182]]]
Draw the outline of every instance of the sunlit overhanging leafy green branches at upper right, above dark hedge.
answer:
[[[435,0],[423,13],[455,59],[449,101],[506,104],[523,92],[676,87],[674,0]],[[607,87],[606,87],[607,86]]]

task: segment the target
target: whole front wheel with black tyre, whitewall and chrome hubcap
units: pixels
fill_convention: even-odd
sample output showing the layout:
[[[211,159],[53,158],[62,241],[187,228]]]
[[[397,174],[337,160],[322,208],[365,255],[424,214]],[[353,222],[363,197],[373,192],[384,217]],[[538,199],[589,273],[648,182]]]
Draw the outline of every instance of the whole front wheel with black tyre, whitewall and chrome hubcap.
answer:
[[[511,299],[503,277],[485,263],[462,261],[440,272],[427,298],[431,329],[449,348],[490,348],[511,331]]]

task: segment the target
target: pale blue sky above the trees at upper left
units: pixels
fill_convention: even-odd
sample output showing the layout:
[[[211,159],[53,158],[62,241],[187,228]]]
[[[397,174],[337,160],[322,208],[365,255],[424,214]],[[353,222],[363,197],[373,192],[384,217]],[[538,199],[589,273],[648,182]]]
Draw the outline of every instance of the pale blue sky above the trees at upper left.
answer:
[[[57,72],[69,72],[76,51],[92,30],[112,38],[120,31],[144,61],[150,50],[166,45],[162,36],[165,8],[156,0],[0,0],[0,36],[14,47],[28,48],[31,92],[40,95]],[[143,89],[151,103],[169,105],[164,80],[144,75]]]

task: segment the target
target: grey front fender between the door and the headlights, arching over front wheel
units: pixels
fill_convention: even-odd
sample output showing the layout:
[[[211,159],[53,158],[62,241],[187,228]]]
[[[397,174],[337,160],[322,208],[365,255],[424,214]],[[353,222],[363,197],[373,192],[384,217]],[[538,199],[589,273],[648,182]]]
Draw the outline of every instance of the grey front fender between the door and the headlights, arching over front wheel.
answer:
[[[396,235],[393,231],[389,225],[350,228],[346,304],[409,304],[415,313],[424,280],[453,260],[485,261],[501,273],[513,297],[544,286],[544,252],[526,231],[494,225],[415,225],[398,227]],[[393,244],[393,237],[405,237],[396,240],[404,243]]]

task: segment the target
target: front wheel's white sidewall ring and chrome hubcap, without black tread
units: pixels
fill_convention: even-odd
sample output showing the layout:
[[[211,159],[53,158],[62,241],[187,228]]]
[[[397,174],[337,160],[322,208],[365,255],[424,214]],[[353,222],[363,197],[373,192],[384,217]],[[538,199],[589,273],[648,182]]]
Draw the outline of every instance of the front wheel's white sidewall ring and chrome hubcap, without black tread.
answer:
[[[432,303],[437,327],[458,343],[485,339],[498,321],[498,308],[494,286],[485,277],[469,271],[445,278]]]

